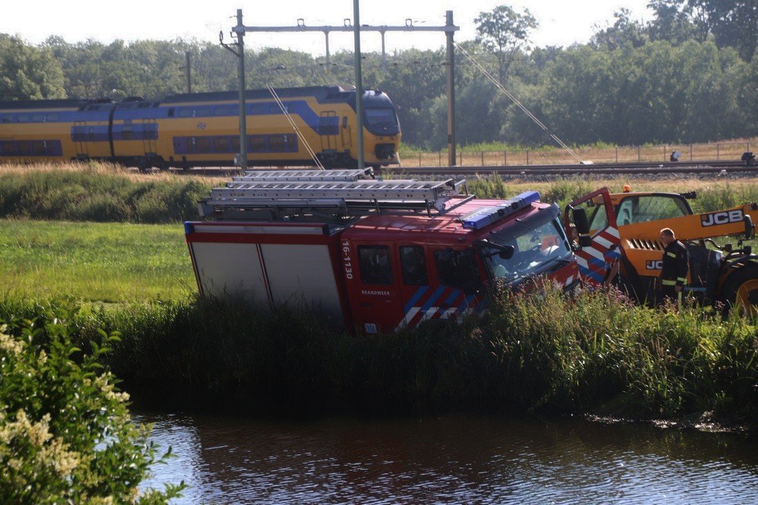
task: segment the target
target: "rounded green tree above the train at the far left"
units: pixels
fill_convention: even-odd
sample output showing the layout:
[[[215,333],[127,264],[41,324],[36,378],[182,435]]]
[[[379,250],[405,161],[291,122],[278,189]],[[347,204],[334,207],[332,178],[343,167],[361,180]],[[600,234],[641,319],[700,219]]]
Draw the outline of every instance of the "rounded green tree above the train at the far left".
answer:
[[[65,97],[61,64],[48,49],[0,33],[0,100]]]

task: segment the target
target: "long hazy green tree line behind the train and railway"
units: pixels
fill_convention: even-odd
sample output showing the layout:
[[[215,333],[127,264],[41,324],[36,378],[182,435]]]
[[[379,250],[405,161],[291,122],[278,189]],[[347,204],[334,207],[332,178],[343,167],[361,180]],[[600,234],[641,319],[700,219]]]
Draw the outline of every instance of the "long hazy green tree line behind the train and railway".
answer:
[[[697,143],[758,135],[755,0],[653,0],[653,20],[628,11],[597,27],[587,44],[532,48],[537,21],[501,5],[476,18],[461,45],[567,143]],[[0,34],[0,99],[161,99],[186,91],[236,89],[236,58],[198,40],[66,42],[39,45]],[[250,89],[353,83],[352,52],[323,57],[265,48],[246,52]],[[363,55],[364,86],[396,105],[403,140],[446,146],[445,52],[405,49],[383,61]],[[456,55],[457,140],[461,145],[539,146],[549,135]]]

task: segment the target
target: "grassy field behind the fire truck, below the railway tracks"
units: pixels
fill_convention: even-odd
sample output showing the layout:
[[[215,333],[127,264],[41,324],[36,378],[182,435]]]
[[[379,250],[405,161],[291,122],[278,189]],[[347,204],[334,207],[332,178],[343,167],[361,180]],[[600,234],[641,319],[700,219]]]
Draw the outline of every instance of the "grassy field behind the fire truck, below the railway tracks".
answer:
[[[181,300],[196,290],[181,221],[226,179],[136,174],[108,165],[0,168],[0,281],[14,296],[71,296],[127,302]],[[537,189],[560,205],[625,180],[503,183],[469,181],[478,196],[507,198]],[[758,201],[752,180],[635,181],[635,190],[698,190],[696,212]],[[74,223],[70,221],[87,221]],[[125,223],[90,221],[127,221]],[[160,224],[166,223],[166,224]]]

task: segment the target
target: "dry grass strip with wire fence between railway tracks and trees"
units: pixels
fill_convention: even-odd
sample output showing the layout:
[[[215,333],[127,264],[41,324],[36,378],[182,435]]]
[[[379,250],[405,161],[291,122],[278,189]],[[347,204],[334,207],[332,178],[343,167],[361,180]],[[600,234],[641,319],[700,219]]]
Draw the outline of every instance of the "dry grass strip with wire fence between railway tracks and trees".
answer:
[[[612,146],[595,143],[588,146],[571,146],[582,160],[595,163],[613,162],[663,162],[669,161],[673,151],[681,153],[681,162],[711,161],[716,159],[739,161],[742,153],[750,147],[756,151],[758,137],[732,139],[721,142],[693,144],[645,144],[644,146]],[[573,164],[576,159],[558,146],[518,146],[505,143],[478,143],[458,146],[461,165],[553,165]],[[407,143],[400,144],[400,159],[406,166],[434,167],[447,165],[447,152],[428,151]],[[528,155],[527,155],[528,152]],[[484,157],[483,157],[484,155]],[[528,157],[528,163],[527,163]]]

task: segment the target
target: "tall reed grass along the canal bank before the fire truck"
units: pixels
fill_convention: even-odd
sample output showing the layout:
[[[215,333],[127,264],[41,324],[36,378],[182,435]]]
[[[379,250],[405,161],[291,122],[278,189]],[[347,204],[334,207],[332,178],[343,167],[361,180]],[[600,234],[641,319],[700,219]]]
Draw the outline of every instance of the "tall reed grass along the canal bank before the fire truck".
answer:
[[[80,311],[78,338],[120,330],[108,359],[125,389],[175,407],[758,422],[756,321],[637,307],[615,292],[540,292],[495,293],[481,317],[372,337],[232,300],[106,306]],[[5,299],[0,318],[50,308]]]

